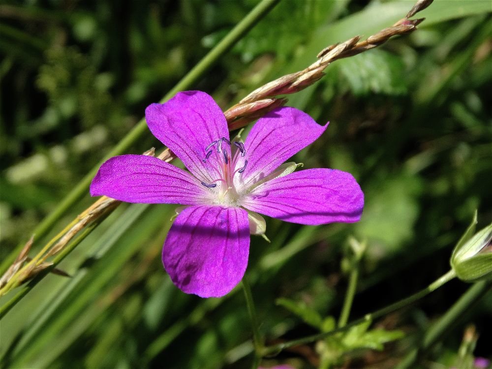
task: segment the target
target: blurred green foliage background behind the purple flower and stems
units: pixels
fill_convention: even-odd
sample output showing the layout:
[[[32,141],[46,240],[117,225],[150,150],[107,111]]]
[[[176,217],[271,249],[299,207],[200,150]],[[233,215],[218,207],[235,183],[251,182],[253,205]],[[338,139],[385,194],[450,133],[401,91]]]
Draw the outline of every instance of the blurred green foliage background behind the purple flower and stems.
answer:
[[[2,259],[258,3],[25,0],[0,3]],[[324,47],[369,36],[412,1],[282,0],[191,89],[224,110],[262,84],[305,68]],[[251,239],[247,274],[267,343],[316,331],[278,298],[338,316],[347,238],[368,241],[351,317],[423,288],[449,269],[478,209],[492,220],[492,39],[489,0],[436,0],[411,35],[337,61],[287,105],[326,133],[295,157],[351,172],[366,195],[361,222],[300,226],[267,219]],[[148,132],[128,153],[161,149]],[[55,235],[92,203],[89,194]],[[2,367],[248,368],[251,328],[242,291],[203,300],[165,274],[160,251],[175,206],[120,206],[1,321]],[[36,242],[43,245],[49,237]],[[343,357],[346,368],[392,368],[466,290],[452,281],[377,322],[404,338]],[[238,293],[239,292],[239,293]],[[2,297],[4,304],[13,294]],[[456,366],[464,328],[491,356],[492,296],[467,311],[424,366]],[[486,327],[489,327],[486,329]],[[264,365],[319,363],[314,345]]]

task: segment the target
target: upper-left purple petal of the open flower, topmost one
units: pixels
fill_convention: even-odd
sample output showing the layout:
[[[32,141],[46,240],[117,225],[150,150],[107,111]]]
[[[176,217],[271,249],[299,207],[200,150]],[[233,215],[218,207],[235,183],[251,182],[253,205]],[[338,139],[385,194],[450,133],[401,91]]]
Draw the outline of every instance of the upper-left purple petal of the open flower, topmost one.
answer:
[[[211,174],[214,173],[213,158],[203,161],[207,155],[205,149],[217,139],[229,139],[229,130],[222,110],[210,95],[201,91],[179,92],[164,104],[149,105],[145,119],[154,136],[171,149],[195,177],[206,183],[216,179]],[[230,156],[230,148],[227,150]]]

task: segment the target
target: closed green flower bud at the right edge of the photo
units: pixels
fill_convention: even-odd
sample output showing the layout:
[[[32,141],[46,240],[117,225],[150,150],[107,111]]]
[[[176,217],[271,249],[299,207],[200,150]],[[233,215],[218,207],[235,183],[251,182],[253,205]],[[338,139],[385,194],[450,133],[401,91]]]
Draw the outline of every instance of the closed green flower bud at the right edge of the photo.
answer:
[[[492,223],[466,242],[459,242],[451,255],[456,276],[466,282],[492,279]]]

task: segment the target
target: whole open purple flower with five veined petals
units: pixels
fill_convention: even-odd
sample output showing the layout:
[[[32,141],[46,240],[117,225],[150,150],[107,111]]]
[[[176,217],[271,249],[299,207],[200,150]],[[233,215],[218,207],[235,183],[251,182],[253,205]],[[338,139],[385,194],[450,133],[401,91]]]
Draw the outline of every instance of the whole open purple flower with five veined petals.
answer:
[[[115,156],[99,168],[91,195],[187,205],[162,249],[164,268],[185,293],[220,297],[241,281],[249,235],[265,231],[257,213],[311,225],[361,217],[364,194],[352,175],[333,169],[294,172],[296,163],[282,164],[328,125],[300,110],[282,107],[265,115],[244,143],[230,141],[224,114],[205,92],[180,92],[147,107],[145,117],[189,172],[153,156]]]

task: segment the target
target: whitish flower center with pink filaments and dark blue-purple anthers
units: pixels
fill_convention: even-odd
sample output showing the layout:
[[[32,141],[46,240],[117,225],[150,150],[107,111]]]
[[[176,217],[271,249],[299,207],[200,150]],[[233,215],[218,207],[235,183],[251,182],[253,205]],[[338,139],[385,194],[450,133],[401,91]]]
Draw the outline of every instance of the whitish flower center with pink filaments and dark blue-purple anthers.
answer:
[[[211,183],[202,182],[202,185],[209,188],[216,195],[217,204],[239,206],[240,194],[234,185],[234,176],[241,175],[246,169],[247,160],[238,166],[238,161],[246,155],[246,150],[242,142],[231,142],[221,137],[212,141],[205,148],[204,163],[209,164],[213,178]],[[234,168],[238,168],[234,170]]]

